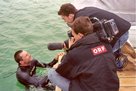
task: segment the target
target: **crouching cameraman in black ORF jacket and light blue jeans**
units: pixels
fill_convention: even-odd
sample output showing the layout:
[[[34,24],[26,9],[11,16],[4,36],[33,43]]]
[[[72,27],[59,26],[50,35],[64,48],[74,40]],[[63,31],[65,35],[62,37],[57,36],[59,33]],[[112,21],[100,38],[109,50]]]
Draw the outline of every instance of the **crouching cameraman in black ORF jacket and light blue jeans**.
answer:
[[[110,44],[101,42],[88,17],[72,24],[70,48],[48,78],[63,91],[119,91],[115,58]]]

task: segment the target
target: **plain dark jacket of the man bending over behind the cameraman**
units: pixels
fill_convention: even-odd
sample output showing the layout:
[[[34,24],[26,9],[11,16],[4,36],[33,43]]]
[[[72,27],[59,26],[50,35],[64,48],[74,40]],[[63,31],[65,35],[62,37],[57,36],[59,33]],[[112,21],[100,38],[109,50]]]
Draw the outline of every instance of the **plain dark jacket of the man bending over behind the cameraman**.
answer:
[[[117,36],[115,37],[115,39],[112,41],[112,45],[114,45],[116,43],[116,41],[124,34],[126,33],[129,28],[131,27],[131,24],[124,20],[123,18],[115,15],[114,13],[108,12],[106,10],[102,10],[99,8],[95,8],[95,7],[86,7],[83,8],[79,11],[77,11],[77,13],[75,14],[75,18],[79,17],[79,16],[88,16],[88,17],[97,17],[98,19],[102,20],[102,19],[114,19],[115,23],[119,29],[119,33],[117,34]]]

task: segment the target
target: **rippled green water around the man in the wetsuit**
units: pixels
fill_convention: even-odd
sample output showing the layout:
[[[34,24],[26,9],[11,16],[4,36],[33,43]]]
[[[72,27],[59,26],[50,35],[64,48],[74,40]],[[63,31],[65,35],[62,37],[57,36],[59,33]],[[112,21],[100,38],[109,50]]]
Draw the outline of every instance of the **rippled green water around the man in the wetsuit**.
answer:
[[[50,62],[62,51],[50,51],[47,44],[67,39],[69,28],[57,11],[70,1],[0,0],[0,91],[24,91],[16,80],[15,51],[26,50],[40,62]]]

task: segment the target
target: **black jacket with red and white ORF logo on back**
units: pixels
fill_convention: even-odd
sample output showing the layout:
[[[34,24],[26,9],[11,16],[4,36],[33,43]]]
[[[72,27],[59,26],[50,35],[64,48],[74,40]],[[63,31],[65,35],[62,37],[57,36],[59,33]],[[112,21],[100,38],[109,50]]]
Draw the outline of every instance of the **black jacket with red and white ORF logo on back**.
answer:
[[[56,71],[69,79],[69,91],[119,91],[114,55],[96,34],[77,41]]]

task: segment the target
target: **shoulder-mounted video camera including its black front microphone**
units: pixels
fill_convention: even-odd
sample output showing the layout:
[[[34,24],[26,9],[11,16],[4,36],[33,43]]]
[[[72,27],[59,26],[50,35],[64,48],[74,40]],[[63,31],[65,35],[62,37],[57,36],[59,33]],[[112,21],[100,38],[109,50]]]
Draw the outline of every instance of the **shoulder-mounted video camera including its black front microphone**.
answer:
[[[91,17],[90,21],[93,23],[94,32],[98,35],[100,40],[104,42],[111,42],[112,39],[118,34],[119,30],[114,19],[110,20],[99,20],[96,17]],[[67,35],[69,38],[73,37],[72,32],[68,31]],[[68,40],[64,41],[65,45],[68,47]],[[49,43],[48,49],[49,50],[58,50],[63,49],[63,43]]]

